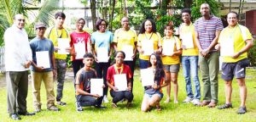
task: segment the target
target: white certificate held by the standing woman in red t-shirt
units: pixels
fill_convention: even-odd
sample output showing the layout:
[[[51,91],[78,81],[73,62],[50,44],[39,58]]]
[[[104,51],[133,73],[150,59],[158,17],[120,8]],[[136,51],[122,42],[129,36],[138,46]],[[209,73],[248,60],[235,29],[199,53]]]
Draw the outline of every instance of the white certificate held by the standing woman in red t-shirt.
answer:
[[[85,44],[84,42],[78,42],[73,45],[75,48],[75,52],[77,53],[76,59],[84,58],[85,54]]]

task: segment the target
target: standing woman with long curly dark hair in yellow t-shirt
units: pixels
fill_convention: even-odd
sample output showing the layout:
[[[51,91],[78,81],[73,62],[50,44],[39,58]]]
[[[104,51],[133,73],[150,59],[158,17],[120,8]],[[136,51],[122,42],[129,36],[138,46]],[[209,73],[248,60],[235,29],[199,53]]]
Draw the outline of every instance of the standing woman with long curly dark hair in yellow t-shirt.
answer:
[[[140,55],[140,69],[148,68],[149,55],[161,53],[161,36],[156,32],[156,25],[153,19],[143,21],[138,35],[137,50]]]

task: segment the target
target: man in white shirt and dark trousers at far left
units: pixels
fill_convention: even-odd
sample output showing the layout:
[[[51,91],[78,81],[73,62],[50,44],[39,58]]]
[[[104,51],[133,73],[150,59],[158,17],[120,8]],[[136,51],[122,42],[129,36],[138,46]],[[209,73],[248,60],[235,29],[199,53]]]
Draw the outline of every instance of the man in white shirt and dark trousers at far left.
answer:
[[[19,115],[34,115],[26,111],[28,86],[28,68],[32,61],[32,51],[24,29],[25,19],[16,14],[14,25],[4,32],[5,69],[8,90],[8,113],[11,119],[20,119]]]

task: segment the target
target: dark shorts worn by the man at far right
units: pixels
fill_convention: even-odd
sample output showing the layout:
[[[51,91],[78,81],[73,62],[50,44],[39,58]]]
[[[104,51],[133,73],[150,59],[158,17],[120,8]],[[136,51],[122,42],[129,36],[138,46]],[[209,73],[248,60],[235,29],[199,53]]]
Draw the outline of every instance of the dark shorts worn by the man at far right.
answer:
[[[221,67],[221,78],[223,80],[233,80],[234,76],[236,76],[236,79],[245,78],[246,67],[242,66],[239,62],[223,63]]]

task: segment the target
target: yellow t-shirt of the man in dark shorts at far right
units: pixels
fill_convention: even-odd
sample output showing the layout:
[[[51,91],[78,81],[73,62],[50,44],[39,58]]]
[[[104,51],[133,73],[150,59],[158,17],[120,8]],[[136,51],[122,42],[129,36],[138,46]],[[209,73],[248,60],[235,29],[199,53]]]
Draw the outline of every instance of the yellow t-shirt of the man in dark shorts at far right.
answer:
[[[231,39],[234,44],[234,53],[237,53],[241,50],[242,47],[246,46],[246,42],[248,39],[253,39],[252,34],[247,29],[247,27],[243,25],[236,25],[235,27],[226,27],[223,31],[221,31],[218,43],[220,43],[220,47],[222,45],[228,45],[230,42],[225,42]],[[242,53],[238,58],[231,58],[230,56],[223,56],[224,63],[236,63],[237,61],[247,58],[247,53]]]

